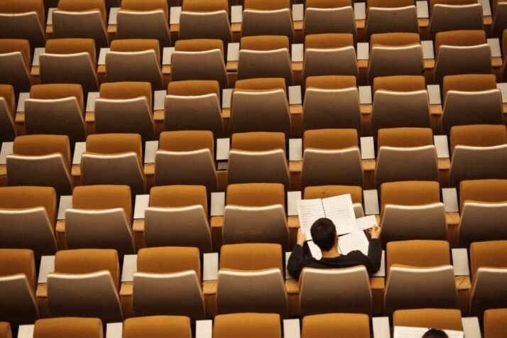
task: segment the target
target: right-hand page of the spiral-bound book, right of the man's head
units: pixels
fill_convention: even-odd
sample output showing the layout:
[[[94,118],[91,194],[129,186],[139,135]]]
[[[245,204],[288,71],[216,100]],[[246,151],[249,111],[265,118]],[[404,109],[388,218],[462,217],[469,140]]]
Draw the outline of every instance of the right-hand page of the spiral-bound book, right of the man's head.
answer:
[[[322,199],[326,217],[337,227],[339,235],[357,231],[356,215],[350,194]]]

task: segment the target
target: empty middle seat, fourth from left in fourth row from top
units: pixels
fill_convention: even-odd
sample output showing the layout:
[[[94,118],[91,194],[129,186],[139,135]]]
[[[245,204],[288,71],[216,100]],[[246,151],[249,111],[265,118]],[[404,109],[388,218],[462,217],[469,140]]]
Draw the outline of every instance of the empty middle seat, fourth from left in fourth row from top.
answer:
[[[289,189],[283,133],[234,133],[227,180],[234,183],[281,183]]]

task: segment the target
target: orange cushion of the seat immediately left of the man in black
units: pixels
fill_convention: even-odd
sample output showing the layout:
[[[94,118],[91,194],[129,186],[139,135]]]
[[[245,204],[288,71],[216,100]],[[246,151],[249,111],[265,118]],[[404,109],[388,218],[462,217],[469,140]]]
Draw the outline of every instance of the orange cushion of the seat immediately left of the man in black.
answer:
[[[279,244],[227,244],[222,246],[220,268],[241,271],[278,268],[282,272],[282,248]]]

